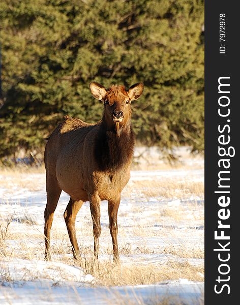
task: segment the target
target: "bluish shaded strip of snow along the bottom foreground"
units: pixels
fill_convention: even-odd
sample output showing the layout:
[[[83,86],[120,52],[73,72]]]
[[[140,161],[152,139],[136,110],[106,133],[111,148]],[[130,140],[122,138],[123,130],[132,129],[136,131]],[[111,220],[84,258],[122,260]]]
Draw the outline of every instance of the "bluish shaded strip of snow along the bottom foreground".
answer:
[[[79,287],[36,286],[34,282],[26,285],[1,287],[1,305],[42,305],[49,304],[146,304],[171,300],[185,305],[200,305],[204,297],[204,283],[188,280],[168,281],[156,285],[118,286],[118,287]]]

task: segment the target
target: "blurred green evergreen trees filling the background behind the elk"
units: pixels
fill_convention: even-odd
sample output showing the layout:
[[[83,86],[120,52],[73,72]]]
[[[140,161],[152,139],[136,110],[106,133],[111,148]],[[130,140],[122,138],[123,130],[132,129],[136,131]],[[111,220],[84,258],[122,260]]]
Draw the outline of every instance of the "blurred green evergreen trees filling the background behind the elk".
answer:
[[[201,151],[203,18],[199,0],[3,0],[0,157],[43,148],[65,114],[99,120],[91,81],[144,82],[137,139]]]

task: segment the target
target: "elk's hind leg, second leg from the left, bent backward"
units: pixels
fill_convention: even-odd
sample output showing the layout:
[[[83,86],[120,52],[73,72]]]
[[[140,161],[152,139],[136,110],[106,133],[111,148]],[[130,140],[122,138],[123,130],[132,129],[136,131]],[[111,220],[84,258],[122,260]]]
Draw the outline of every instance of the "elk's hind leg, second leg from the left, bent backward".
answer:
[[[73,251],[73,258],[75,261],[81,258],[77,243],[75,221],[76,221],[77,213],[81,208],[82,204],[83,204],[82,200],[74,201],[72,198],[70,198],[69,203],[64,212],[64,219],[68,229],[68,235],[70,238],[72,251]]]

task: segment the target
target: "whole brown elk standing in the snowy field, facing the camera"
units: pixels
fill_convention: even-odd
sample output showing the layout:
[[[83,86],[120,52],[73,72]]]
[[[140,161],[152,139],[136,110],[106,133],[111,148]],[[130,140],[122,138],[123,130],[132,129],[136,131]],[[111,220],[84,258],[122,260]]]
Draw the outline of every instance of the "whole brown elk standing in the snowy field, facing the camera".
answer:
[[[121,192],[130,179],[135,142],[130,104],[141,96],[143,84],[134,84],[127,90],[123,85],[112,85],[105,89],[99,83],[92,82],[89,88],[92,95],[104,104],[102,120],[88,124],[81,119],[66,116],[47,139],[44,154],[47,191],[44,212],[45,260],[51,260],[50,230],[62,190],[70,195],[64,219],[74,260],[81,258],[75,220],[85,201],[89,201],[90,205],[94,257],[98,260],[101,200],[108,200],[113,260],[119,259],[117,211]]]

